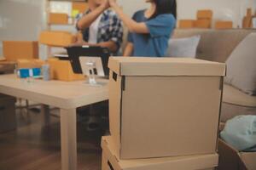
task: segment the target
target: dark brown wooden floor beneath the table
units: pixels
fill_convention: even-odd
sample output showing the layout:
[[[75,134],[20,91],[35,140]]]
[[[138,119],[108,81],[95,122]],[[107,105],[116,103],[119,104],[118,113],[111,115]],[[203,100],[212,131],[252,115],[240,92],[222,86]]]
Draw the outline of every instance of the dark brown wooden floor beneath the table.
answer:
[[[58,111],[56,111],[58,112]],[[60,120],[51,116],[44,126],[42,114],[17,111],[18,128],[0,133],[0,170],[60,170]],[[86,131],[78,122],[79,170],[100,170],[102,130]]]

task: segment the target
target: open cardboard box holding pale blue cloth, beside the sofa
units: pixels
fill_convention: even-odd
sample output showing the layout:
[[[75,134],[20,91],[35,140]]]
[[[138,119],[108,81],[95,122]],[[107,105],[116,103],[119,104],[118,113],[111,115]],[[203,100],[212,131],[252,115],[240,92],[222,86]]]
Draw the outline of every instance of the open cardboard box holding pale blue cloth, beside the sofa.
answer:
[[[218,140],[218,170],[255,170],[256,152],[239,152],[224,140]]]

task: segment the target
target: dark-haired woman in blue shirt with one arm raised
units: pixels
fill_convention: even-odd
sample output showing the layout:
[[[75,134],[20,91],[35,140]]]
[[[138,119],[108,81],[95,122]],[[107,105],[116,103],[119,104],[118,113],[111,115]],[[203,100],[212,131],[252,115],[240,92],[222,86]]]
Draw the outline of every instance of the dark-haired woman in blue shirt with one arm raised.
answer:
[[[146,0],[151,7],[137,11],[131,19],[115,0],[110,6],[130,31],[125,56],[163,57],[176,26],[176,0]]]

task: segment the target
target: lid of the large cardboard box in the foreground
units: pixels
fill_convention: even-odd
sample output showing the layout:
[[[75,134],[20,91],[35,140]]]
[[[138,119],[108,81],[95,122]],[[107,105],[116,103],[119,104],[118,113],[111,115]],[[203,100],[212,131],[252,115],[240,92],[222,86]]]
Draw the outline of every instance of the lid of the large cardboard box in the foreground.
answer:
[[[108,67],[121,76],[224,76],[225,64],[201,59],[111,57]]]

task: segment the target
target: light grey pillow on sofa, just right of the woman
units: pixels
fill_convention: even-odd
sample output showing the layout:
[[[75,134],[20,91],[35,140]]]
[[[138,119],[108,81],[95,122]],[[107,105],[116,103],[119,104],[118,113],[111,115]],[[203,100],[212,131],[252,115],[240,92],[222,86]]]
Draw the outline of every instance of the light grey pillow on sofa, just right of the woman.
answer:
[[[166,57],[195,58],[200,38],[201,36],[171,38],[168,42]]]

